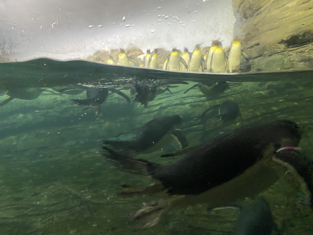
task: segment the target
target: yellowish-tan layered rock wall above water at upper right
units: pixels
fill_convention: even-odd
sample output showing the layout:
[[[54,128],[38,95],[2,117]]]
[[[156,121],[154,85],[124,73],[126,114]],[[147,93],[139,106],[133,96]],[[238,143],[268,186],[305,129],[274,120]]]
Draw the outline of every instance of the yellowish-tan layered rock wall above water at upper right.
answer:
[[[313,68],[313,0],[233,0],[252,71]]]

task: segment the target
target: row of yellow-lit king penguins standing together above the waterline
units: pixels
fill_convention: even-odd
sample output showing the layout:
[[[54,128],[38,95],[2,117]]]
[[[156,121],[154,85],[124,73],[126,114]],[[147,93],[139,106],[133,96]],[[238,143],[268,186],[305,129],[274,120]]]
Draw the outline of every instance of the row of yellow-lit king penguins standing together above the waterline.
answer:
[[[192,52],[189,52],[187,48],[184,48],[183,52],[176,48],[173,48],[171,52],[157,48],[152,52],[147,50],[146,55],[135,55],[136,58],[127,55],[124,49],[120,49],[117,58],[109,55],[107,60],[97,57],[96,61],[151,69],[214,73],[238,71],[242,57],[249,61],[248,55],[242,50],[238,40],[233,40],[226,51],[224,51],[222,42],[219,40],[212,41],[210,47],[202,48],[201,46],[202,44],[197,44]]]

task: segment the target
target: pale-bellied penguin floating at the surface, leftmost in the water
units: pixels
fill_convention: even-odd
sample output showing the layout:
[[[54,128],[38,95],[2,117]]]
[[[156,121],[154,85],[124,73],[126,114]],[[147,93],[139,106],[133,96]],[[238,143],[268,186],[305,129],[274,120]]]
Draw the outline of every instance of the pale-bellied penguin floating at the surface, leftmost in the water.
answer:
[[[38,88],[38,87],[32,87],[32,88],[14,88],[13,90],[7,90],[5,91],[5,95],[7,98],[0,102],[0,106],[3,106],[10,102],[13,99],[20,99],[20,100],[34,100],[38,98],[43,91],[49,91],[45,88]],[[49,91],[51,93],[56,94],[53,91]]]

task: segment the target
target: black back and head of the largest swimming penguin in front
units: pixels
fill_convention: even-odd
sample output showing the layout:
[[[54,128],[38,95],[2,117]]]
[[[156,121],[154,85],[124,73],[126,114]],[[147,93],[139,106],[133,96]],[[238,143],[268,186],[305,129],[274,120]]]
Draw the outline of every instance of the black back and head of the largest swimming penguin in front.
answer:
[[[244,173],[266,154],[297,146],[301,134],[291,121],[240,128],[196,146],[180,160],[152,169],[168,193],[195,195]]]

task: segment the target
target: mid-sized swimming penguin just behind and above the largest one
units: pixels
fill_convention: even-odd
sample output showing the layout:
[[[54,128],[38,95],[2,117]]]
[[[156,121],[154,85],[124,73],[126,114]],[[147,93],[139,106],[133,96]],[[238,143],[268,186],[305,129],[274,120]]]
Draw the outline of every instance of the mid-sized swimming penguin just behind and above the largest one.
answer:
[[[186,148],[188,146],[187,140],[182,135],[181,130],[177,129],[177,126],[181,123],[182,118],[178,115],[155,118],[143,126],[132,130],[135,133],[131,140],[106,140],[103,144],[105,148],[114,149],[114,151],[126,154],[127,158],[136,154],[155,152],[162,149],[162,147],[170,143],[173,139],[179,142],[182,148]]]

